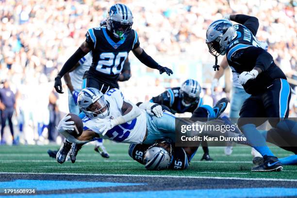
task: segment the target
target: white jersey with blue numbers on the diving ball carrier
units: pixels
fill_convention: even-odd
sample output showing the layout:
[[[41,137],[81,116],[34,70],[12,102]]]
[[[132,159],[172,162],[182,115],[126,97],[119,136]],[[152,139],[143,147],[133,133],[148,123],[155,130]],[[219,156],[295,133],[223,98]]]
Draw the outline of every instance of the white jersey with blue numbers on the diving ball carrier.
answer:
[[[104,94],[104,98],[109,103],[110,119],[121,116],[121,109],[123,101],[125,100],[121,91],[119,89],[111,89]],[[99,132],[99,128],[97,127],[98,124],[96,121],[99,120],[99,118],[90,119],[85,116],[82,119],[83,130],[92,130],[93,132],[100,134],[100,137],[103,139],[109,139],[121,143],[139,144],[143,142],[147,131],[146,114],[145,110],[141,110],[141,114],[138,117],[134,118],[130,122],[115,126],[106,132],[104,136],[101,135],[101,132]]]

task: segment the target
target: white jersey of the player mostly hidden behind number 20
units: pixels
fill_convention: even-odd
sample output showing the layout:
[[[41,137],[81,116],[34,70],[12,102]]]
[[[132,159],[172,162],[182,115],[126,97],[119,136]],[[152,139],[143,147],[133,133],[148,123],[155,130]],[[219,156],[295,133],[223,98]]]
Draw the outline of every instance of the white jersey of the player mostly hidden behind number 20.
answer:
[[[82,77],[85,71],[89,70],[92,65],[93,55],[90,51],[79,61],[80,66],[78,66],[73,71],[69,72],[71,84],[75,91],[80,92],[82,90]]]

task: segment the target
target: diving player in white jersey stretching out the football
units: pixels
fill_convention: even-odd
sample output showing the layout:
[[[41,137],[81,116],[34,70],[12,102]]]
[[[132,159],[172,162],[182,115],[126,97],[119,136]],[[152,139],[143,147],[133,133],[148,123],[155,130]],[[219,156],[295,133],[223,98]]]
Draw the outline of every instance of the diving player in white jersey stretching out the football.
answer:
[[[163,112],[159,104],[144,102],[139,107],[124,98],[118,89],[111,89],[102,94],[96,88],[85,88],[78,96],[78,104],[85,114],[82,119],[83,132],[75,138],[69,133],[74,129],[72,121],[64,117],[59,125],[58,132],[63,134],[69,142],[83,144],[94,141],[96,138],[110,139],[119,143],[152,145],[156,140],[170,138],[175,142],[175,119],[168,112]],[[182,121],[192,124],[192,121]],[[204,122],[203,122],[204,123]],[[212,120],[208,124],[225,124],[223,120]],[[195,136],[200,132],[189,132]],[[204,134],[217,136],[213,132]],[[219,135],[222,135],[219,132]],[[226,132],[223,135],[230,135]],[[234,137],[241,134],[234,133]],[[61,148],[63,150],[63,148]]]

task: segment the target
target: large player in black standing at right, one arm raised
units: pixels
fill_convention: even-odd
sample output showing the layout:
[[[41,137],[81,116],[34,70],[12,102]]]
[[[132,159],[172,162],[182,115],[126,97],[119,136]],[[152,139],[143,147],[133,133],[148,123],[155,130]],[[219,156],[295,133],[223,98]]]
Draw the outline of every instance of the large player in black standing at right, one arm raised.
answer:
[[[230,20],[239,24],[233,25]],[[233,72],[238,73],[238,82],[251,94],[240,111],[238,126],[253,148],[264,156],[264,163],[253,167],[252,171],[281,171],[281,162],[267,147],[264,137],[256,127],[267,119],[273,127],[286,122],[291,88],[272,56],[261,48],[256,39],[258,27],[256,17],[228,15],[209,26],[206,44],[210,53],[215,56],[214,70],[219,67],[217,56],[226,54],[229,66]],[[256,122],[255,119],[245,119],[247,117],[267,119],[257,119]]]

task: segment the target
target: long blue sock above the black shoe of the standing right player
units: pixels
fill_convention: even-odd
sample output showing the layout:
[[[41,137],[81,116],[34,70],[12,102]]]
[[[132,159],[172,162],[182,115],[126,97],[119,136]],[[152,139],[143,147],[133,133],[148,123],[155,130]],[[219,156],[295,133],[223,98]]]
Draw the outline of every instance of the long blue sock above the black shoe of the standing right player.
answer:
[[[255,148],[262,156],[274,156],[271,150],[267,147],[264,136],[256,129],[254,124],[246,124],[242,126],[241,131],[247,137],[250,145]]]

